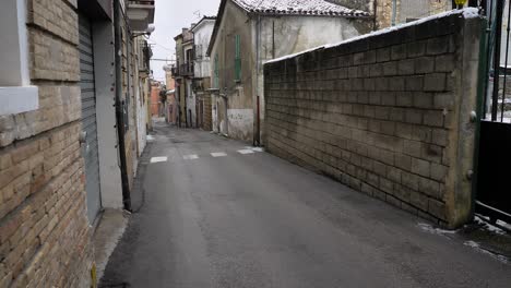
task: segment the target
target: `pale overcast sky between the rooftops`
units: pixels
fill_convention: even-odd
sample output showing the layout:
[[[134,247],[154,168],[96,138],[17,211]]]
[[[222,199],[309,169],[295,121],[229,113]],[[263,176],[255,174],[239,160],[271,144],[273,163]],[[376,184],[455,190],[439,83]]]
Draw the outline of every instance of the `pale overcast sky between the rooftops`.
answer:
[[[148,40],[153,45],[153,58],[175,59],[176,43],[174,37],[183,27],[190,27],[203,15],[215,16],[218,12],[219,0],[156,0],[154,24],[156,29]],[[200,13],[198,17],[197,13]],[[170,62],[169,62],[170,63]],[[165,80],[163,61],[151,61],[155,80]]]

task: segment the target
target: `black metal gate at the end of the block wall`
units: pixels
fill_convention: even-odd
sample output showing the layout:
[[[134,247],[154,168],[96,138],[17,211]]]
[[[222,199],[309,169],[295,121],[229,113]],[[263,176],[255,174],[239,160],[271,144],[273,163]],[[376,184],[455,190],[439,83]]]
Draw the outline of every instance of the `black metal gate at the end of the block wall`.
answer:
[[[482,1],[487,16],[476,212],[511,223],[510,0]]]

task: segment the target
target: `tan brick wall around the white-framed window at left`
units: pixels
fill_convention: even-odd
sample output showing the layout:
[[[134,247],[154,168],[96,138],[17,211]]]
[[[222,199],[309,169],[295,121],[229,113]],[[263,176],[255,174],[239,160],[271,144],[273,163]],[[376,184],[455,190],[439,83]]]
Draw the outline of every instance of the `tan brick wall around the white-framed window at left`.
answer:
[[[0,117],[0,287],[90,287],[76,1],[27,10],[39,108]]]

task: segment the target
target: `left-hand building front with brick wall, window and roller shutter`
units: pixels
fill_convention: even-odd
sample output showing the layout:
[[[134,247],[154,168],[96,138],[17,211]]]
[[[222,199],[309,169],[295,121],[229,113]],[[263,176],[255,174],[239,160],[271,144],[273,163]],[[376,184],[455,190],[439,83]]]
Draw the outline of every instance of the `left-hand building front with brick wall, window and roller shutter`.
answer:
[[[139,85],[129,92],[134,10],[152,22],[154,1],[2,3],[0,287],[95,285],[94,226],[104,207],[129,208],[122,175],[143,148],[133,141]]]

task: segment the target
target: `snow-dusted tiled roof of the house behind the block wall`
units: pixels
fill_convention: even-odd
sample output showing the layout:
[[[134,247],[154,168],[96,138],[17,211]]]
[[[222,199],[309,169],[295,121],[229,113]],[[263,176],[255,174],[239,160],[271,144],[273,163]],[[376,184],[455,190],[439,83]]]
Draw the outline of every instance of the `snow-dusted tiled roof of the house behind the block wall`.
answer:
[[[317,16],[370,16],[368,12],[348,9],[324,0],[233,0],[252,13],[317,15]]]

